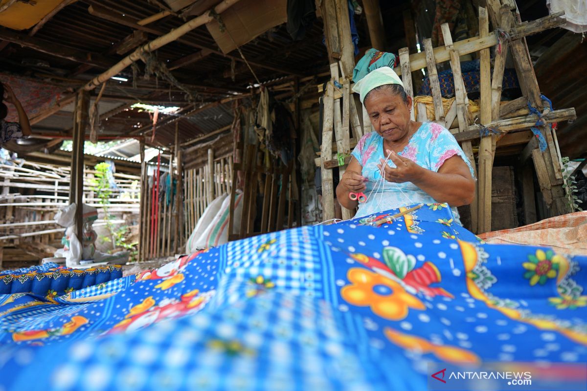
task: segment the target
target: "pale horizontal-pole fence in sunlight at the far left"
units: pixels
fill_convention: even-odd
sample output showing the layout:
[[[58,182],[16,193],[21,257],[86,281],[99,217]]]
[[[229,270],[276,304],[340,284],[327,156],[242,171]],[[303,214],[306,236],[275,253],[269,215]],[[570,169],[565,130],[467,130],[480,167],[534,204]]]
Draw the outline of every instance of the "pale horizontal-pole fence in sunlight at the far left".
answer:
[[[90,179],[95,171],[84,171],[83,202],[98,209],[103,205]],[[114,173],[116,188],[111,189],[109,213],[115,224],[138,223],[140,177]],[[62,247],[65,229],[55,223],[55,213],[69,205],[69,167],[35,164],[22,159],[0,164],[0,268],[36,264],[53,256]],[[95,227],[105,225],[103,219]]]

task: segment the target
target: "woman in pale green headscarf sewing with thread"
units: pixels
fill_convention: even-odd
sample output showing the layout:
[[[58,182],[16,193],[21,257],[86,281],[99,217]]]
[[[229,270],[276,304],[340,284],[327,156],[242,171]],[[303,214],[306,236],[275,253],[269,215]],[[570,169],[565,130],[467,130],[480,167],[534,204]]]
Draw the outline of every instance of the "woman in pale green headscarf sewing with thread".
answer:
[[[416,203],[468,205],[473,168],[453,135],[435,123],[410,119],[412,100],[390,67],[367,74],[353,87],[375,132],[364,135],[336,187],[339,202],[359,206],[355,217]],[[349,198],[363,192],[366,201]],[[458,219],[456,208],[453,208]]]

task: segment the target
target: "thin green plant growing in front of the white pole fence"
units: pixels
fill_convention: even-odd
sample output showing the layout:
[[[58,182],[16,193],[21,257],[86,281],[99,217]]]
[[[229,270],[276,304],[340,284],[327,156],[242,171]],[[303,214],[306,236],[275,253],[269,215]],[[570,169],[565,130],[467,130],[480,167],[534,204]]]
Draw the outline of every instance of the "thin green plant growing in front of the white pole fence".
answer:
[[[106,229],[110,233],[110,237],[108,236],[100,236],[99,239],[104,242],[110,242],[114,244],[114,247],[120,248],[122,247],[125,250],[130,251],[130,259],[133,260],[137,255],[136,246],[137,243],[126,243],[126,234],[129,231],[129,227],[127,226],[114,226],[112,220],[114,219],[114,215],[110,215],[110,196],[112,195],[112,190],[110,189],[110,182],[108,179],[108,171],[110,165],[107,163],[99,163],[97,164],[94,169],[96,170],[95,177],[90,180],[93,191],[96,192],[97,198],[100,199],[100,205],[104,210],[104,222],[106,223]]]

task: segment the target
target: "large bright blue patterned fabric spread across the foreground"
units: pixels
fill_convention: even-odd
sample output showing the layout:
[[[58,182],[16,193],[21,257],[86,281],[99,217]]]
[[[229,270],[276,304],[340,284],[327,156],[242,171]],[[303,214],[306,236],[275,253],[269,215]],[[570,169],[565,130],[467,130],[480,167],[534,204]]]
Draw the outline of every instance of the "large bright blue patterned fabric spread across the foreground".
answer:
[[[423,390],[428,362],[587,361],[587,257],[485,244],[446,204],[406,212],[230,242],[75,298],[1,295],[0,388]]]

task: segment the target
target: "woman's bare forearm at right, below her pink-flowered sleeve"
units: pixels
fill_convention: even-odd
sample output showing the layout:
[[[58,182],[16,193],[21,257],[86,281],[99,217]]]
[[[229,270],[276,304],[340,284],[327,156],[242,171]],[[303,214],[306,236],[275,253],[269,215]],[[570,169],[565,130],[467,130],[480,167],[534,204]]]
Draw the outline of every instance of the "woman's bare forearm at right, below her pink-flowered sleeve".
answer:
[[[421,179],[413,183],[437,202],[446,202],[450,206],[469,205],[475,196],[473,179],[459,174],[443,174],[423,169]]]

